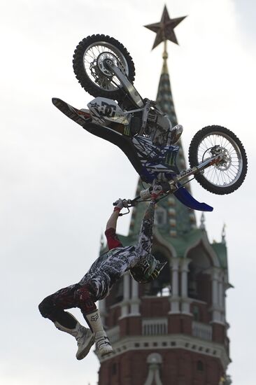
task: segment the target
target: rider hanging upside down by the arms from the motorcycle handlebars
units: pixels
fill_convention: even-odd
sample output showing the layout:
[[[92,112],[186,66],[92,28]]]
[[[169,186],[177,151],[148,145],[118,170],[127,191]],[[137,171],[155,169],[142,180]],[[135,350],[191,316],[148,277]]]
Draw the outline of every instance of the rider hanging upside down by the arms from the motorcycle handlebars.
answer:
[[[59,330],[76,338],[78,344],[76,358],[78,360],[87,356],[94,342],[101,356],[113,351],[95,302],[106,297],[113,283],[118,281],[128,270],[136,281],[146,283],[157,278],[165,265],[165,263],[155,260],[150,253],[155,202],[161,193],[161,186],[153,186],[151,201],[141,224],[138,243],[134,246],[122,246],[115,233],[120,210],[127,206],[126,201],[118,200],[118,204],[106,224],[105,234],[108,241],[108,252],[95,260],[80,282],[58,290],[56,293],[45,297],[39,304],[39,311],[44,318],[50,319]],[[82,311],[90,329],[80,325],[72,314],[64,311],[64,309],[71,309],[72,307],[78,307]]]

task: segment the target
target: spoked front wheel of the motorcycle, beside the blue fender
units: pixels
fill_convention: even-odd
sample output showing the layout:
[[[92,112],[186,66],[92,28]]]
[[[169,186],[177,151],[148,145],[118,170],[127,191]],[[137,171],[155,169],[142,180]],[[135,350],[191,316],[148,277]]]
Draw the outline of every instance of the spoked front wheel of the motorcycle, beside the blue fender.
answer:
[[[233,193],[243,183],[247,172],[247,156],[243,144],[225,127],[212,125],[202,128],[194,135],[189,148],[190,167],[212,158],[212,148],[220,146],[223,159],[195,174],[194,178],[211,193],[225,195]]]

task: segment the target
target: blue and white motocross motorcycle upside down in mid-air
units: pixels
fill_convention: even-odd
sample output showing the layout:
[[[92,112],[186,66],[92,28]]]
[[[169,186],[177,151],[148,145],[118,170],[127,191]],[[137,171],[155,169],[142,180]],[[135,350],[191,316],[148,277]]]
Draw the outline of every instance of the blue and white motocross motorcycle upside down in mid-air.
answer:
[[[118,146],[127,155],[141,181],[162,184],[191,209],[212,211],[190,195],[184,184],[190,177],[215,194],[239,188],[247,172],[243,144],[225,127],[211,125],[194,135],[189,148],[190,168],[179,170],[178,141],[183,127],[171,121],[156,102],[143,99],[134,87],[134,62],[115,38],[92,35],[77,45],[73,70],[80,85],[95,99],[88,109],[76,109],[61,99],[52,103],[88,132]],[[150,193],[140,197],[145,200]],[[132,206],[136,200],[129,201]]]

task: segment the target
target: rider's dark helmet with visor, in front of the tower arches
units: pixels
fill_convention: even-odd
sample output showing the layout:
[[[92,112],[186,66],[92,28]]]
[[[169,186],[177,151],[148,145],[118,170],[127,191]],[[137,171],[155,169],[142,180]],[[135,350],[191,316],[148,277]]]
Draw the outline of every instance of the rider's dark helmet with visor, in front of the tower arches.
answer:
[[[131,267],[130,273],[132,278],[139,283],[148,283],[153,279],[156,279],[159,276],[159,272],[161,272],[166,262],[159,262],[156,260],[154,255],[149,254],[145,257],[143,262],[138,262],[138,264],[134,267]]]

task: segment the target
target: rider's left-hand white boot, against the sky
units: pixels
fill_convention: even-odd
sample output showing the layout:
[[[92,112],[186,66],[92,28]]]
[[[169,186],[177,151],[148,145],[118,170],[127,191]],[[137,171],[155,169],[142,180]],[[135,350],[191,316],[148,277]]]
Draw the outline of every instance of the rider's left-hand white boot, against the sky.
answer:
[[[69,333],[70,335],[73,335],[73,337],[76,338],[76,342],[78,344],[76,358],[78,360],[83,360],[83,358],[87,356],[92,345],[94,344],[94,333],[92,333],[90,329],[85,328],[83,325],[80,325],[77,320],[76,326],[73,329],[66,328],[65,326],[61,325],[58,321],[55,321],[54,324],[57,329],[62,330],[62,332]]]

